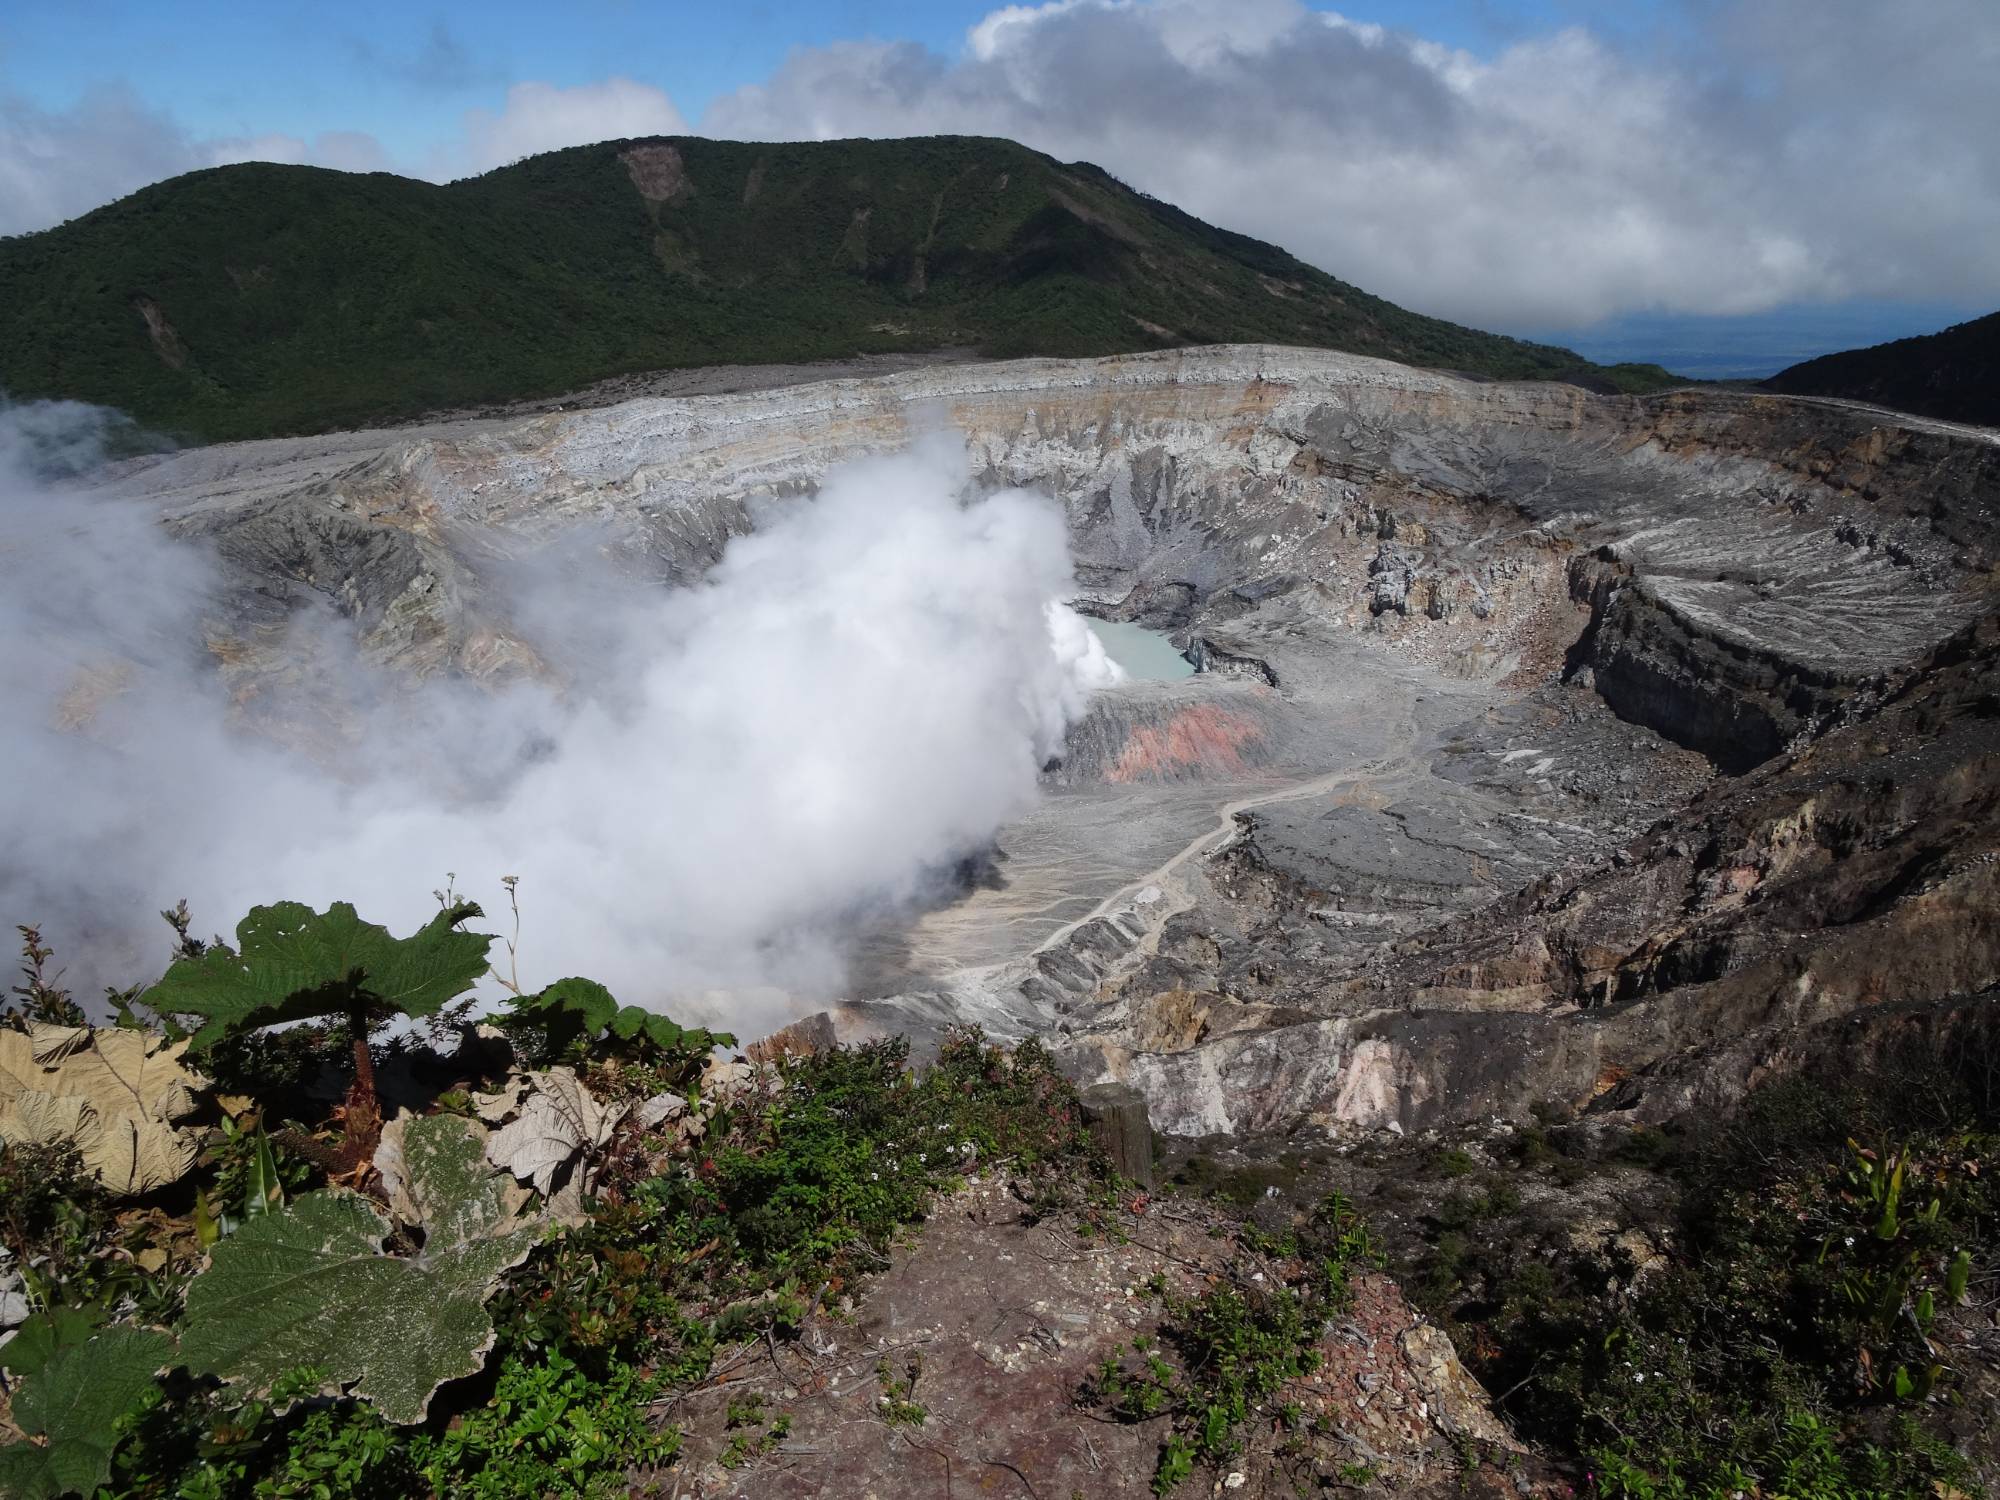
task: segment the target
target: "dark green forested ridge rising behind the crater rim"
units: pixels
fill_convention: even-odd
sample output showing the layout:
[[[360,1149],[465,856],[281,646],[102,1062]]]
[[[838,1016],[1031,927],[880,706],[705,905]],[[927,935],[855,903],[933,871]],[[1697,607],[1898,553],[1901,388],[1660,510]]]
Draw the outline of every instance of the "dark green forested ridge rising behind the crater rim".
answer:
[[[0,240],[0,390],[246,438],[638,370],[946,346],[1258,340],[1500,378],[1668,380],[1418,316],[1006,140],[674,138],[654,144],[646,192],[632,146],[446,186],[222,166]]]

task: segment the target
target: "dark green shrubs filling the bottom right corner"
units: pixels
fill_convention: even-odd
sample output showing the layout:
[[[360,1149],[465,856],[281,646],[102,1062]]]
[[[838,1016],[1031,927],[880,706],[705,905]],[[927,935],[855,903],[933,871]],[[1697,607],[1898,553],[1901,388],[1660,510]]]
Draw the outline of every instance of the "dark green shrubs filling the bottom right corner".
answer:
[[[1976,1492],[1904,1418],[1950,1384],[1926,1334],[1964,1296],[1974,1246],[1992,1254],[2000,1150],[1964,1132],[1810,1146],[1822,1106],[1768,1102],[1786,1124],[1756,1140],[1766,1166],[1732,1156],[1690,1184],[1680,1254],[1630,1302],[1534,1262],[1492,1272],[1494,1312],[1462,1348],[1528,1434],[1590,1456],[1604,1494]]]

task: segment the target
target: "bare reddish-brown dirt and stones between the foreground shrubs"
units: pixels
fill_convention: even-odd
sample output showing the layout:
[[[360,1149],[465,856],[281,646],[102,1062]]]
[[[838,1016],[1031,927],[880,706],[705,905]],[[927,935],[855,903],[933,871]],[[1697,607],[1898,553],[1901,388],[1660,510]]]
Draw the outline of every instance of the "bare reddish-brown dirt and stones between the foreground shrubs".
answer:
[[[1028,1196],[1004,1176],[970,1182],[894,1256],[852,1320],[816,1320],[796,1342],[760,1346],[676,1408],[690,1440],[668,1492],[1148,1494],[1164,1418],[1114,1422],[1078,1392],[1102,1360],[1156,1328],[1156,1276],[1188,1296],[1276,1268],[1258,1268],[1236,1222],[1198,1200],[1138,1198],[1080,1236],[1074,1214],[1024,1222]],[[1292,1496],[1322,1480],[1358,1494],[1566,1492],[1494,1420],[1450,1340],[1412,1316],[1390,1278],[1358,1278],[1320,1354],[1288,1392],[1296,1428],[1266,1412],[1222,1486],[1246,1496]],[[744,1420],[752,1402],[762,1422]],[[790,1422],[766,1438],[778,1412]]]

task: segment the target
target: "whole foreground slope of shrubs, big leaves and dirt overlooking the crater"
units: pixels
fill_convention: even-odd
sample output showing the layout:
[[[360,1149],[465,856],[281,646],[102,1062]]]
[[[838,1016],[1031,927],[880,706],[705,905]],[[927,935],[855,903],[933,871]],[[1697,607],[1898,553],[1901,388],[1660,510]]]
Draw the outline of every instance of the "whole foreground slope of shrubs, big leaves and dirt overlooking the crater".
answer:
[[[1992,1462],[1990,1038],[1724,1124],[1182,1146],[1146,1188],[1034,1042],[750,1060],[580,978],[476,1024],[474,906],[166,916],[112,1026],[24,932],[6,1494],[1940,1498]]]

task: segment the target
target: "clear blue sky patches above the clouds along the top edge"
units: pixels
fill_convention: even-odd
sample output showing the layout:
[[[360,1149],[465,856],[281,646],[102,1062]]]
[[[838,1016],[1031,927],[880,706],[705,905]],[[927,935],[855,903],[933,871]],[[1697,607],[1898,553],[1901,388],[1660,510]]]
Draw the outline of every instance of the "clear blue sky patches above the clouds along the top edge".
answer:
[[[198,134],[366,130],[416,154],[512,82],[656,84],[692,120],[770,76],[792,48],[910,40],[942,54],[1000,6],[978,0],[528,0],[468,6],[14,0],[0,10],[0,82],[44,108],[106,82],[148,80]],[[1672,30],[1654,0],[1372,0],[1338,10],[1490,52],[1584,24],[1622,38]]]

